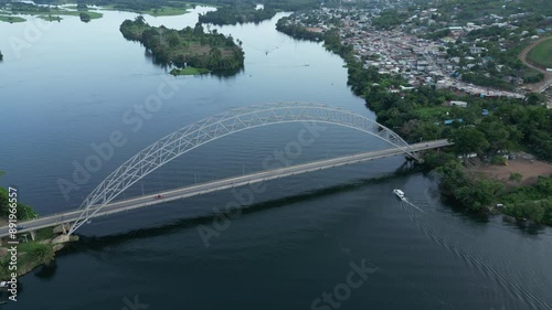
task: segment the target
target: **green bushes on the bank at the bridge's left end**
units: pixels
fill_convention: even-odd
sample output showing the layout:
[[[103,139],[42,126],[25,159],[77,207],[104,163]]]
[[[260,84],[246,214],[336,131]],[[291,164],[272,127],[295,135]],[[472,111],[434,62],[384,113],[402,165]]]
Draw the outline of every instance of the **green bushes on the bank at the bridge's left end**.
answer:
[[[3,225],[8,224],[8,216],[10,214],[9,195],[7,189],[0,188],[0,222]],[[36,218],[38,214],[31,206],[19,203],[17,204],[17,220],[18,223]],[[19,224],[18,224],[19,225]],[[63,228],[49,227],[39,229],[35,233],[34,239],[31,234],[18,234],[19,244],[17,245],[17,274],[18,277],[31,272],[42,265],[50,265],[55,259],[55,253],[65,247],[66,243],[75,242],[77,236],[61,235]],[[0,280],[11,279],[10,261],[11,255],[7,245],[8,237],[2,238],[0,243]]]

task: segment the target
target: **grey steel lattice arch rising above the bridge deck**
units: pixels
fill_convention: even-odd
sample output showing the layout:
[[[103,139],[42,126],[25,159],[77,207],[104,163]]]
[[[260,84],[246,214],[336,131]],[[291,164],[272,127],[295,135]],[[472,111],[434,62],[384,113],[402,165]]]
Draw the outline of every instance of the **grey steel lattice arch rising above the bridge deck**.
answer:
[[[286,122],[314,121],[357,129],[401,149],[418,160],[399,135],[362,115],[319,104],[280,103],[232,109],[208,117],[161,138],[127,160],[84,200],[68,234],[93,217],[126,189],[171,160],[216,139],[243,130]],[[91,207],[94,210],[91,211]],[[97,207],[96,207],[97,206]]]

